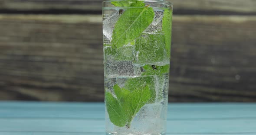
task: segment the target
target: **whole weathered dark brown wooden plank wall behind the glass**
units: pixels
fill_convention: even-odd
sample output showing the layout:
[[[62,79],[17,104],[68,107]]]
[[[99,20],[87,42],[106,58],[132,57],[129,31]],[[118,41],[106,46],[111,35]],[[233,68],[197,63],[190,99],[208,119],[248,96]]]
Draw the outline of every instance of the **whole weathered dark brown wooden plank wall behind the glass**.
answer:
[[[169,101],[256,101],[256,0],[174,4]],[[102,0],[0,0],[0,100],[103,101]]]

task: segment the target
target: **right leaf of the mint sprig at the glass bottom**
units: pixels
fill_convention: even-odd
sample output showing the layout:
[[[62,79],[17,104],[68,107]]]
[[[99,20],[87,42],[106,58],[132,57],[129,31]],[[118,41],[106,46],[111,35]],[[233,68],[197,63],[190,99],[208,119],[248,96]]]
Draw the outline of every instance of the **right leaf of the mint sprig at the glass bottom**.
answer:
[[[127,98],[123,104],[124,112],[128,117],[128,124],[126,127],[129,129],[131,127],[131,122],[138,111],[151,99],[151,91],[146,85],[141,90],[134,90]]]

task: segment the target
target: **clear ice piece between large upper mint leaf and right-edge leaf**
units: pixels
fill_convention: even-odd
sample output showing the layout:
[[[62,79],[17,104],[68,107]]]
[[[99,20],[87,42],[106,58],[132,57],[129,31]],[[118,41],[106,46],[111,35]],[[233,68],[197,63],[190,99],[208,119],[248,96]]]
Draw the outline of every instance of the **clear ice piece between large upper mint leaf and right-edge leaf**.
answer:
[[[162,20],[164,16],[163,11],[154,11],[154,19],[153,22],[148,26],[147,29],[144,30],[144,33],[153,34],[162,31]]]

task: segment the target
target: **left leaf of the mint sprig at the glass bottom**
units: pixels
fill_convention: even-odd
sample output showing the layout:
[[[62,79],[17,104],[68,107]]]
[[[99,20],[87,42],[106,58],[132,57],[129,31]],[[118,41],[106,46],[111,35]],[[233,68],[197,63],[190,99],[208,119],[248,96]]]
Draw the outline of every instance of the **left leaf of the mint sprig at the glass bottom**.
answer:
[[[123,127],[127,123],[127,117],[124,117],[121,103],[112,93],[106,92],[105,103],[110,121],[119,127]]]

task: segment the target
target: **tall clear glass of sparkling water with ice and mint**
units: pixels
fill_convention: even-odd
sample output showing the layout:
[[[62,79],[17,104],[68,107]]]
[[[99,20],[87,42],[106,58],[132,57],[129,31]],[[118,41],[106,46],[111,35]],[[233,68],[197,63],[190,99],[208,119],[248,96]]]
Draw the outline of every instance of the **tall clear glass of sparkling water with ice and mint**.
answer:
[[[172,4],[103,2],[107,135],[164,135],[171,53]]]

